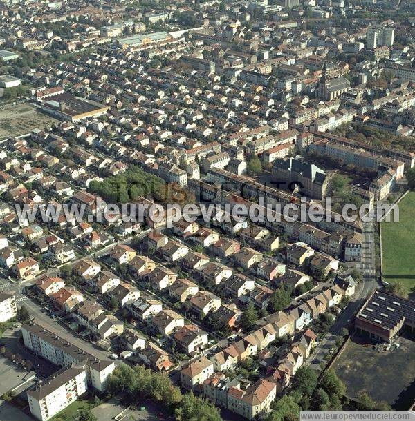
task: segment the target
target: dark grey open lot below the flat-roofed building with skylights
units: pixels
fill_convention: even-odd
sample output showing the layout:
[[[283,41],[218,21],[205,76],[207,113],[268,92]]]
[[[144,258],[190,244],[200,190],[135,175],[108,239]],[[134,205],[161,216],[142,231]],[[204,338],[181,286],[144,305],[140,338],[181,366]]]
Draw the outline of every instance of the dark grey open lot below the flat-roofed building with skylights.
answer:
[[[398,349],[378,352],[366,338],[353,336],[333,365],[347,395],[356,398],[366,391],[376,401],[384,400],[395,409],[408,409],[415,387],[415,337],[404,335]]]

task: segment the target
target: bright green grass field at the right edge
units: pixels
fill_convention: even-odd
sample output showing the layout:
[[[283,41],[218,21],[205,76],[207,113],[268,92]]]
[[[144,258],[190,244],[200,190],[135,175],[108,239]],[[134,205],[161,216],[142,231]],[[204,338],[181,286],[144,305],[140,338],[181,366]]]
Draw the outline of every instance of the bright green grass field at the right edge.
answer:
[[[415,192],[399,202],[399,222],[382,222],[383,277],[415,295]]]

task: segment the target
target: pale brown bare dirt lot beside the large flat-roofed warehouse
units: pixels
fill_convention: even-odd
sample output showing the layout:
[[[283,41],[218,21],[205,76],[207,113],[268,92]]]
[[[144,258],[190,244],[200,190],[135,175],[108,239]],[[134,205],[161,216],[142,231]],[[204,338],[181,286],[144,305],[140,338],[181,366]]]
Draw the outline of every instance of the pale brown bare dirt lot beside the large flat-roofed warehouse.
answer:
[[[0,140],[26,135],[35,128],[43,130],[56,121],[27,103],[0,105]]]

